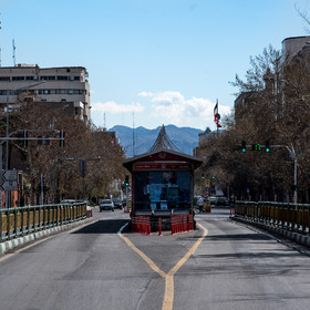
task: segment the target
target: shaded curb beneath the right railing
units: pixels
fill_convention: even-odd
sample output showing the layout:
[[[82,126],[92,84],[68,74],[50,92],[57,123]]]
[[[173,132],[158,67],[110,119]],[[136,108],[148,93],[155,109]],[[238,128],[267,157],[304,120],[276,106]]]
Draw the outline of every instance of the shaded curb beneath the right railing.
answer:
[[[270,231],[272,234],[280,235],[280,236],[282,236],[287,239],[290,239],[292,241],[296,241],[297,244],[300,244],[302,246],[310,247],[310,236],[304,236],[304,235],[299,234],[299,232],[290,231],[290,230],[279,228],[279,227],[275,227],[275,226],[269,226],[269,225],[266,225],[266,224],[262,224],[262,223],[247,220],[247,219],[239,218],[239,217],[236,217],[236,216],[230,216],[229,218],[231,220],[236,220],[236,221],[240,221],[240,223],[244,223],[244,224],[252,225],[255,227],[261,228],[261,229]]]

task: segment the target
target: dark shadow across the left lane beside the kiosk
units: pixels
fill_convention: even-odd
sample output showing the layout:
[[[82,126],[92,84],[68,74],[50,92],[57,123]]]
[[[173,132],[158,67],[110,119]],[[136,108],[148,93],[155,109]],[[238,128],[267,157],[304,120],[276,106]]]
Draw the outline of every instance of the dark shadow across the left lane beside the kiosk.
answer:
[[[117,234],[121,227],[123,227],[126,223],[128,223],[128,219],[99,220],[72,234]]]

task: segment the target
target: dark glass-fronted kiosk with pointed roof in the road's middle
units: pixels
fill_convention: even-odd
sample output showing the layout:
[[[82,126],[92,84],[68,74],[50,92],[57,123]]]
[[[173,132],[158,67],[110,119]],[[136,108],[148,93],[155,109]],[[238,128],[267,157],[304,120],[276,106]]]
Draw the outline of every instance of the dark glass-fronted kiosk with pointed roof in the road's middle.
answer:
[[[202,163],[179,152],[163,125],[147,153],[123,162],[132,174],[131,216],[156,221],[174,214],[194,215],[194,170]]]

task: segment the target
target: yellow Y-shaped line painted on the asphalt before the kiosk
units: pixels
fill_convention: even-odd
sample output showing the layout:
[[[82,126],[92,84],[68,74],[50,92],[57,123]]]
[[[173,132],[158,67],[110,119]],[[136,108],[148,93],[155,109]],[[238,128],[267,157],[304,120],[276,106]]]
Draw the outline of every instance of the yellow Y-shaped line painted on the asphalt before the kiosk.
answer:
[[[199,225],[199,224],[198,224]],[[126,238],[123,234],[118,232],[118,236],[131,247],[135,252],[137,252],[147,265],[157,273],[161,275],[165,279],[165,296],[163,301],[162,310],[172,310],[174,306],[174,276],[177,270],[186,262],[186,260],[195,252],[195,250],[199,247],[204,238],[208,235],[208,229],[204,226],[199,225],[204,230],[203,236],[195,242],[195,245],[188,250],[188,252],[168,271],[168,273],[164,272],[161,268],[156,266],[156,264],[143,251],[141,251],[128,238]]]

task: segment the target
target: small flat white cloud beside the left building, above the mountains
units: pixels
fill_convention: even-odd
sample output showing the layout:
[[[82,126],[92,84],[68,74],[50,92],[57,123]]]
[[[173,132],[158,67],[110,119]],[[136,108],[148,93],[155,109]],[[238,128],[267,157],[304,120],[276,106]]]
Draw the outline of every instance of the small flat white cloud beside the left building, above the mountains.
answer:
[[[97,112],[99,114],[104,114],[105,112],[112,113],[112,114],[121,114],[126,112],[143,112],[144,107],[138,103],[132,103],[132,104],[117,104],[114,101],[107,101],[107,102],[96,102],[92,105],[92,112]]]

